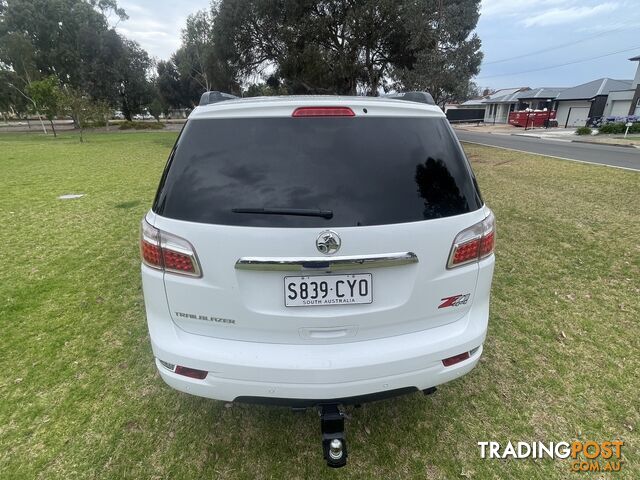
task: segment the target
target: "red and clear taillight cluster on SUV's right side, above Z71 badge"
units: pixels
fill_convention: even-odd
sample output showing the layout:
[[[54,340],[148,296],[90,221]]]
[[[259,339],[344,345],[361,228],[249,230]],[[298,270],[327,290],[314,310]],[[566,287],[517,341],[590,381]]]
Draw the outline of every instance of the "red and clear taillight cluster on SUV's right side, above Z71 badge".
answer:
[[[459,267],[488,257],[493,253],[496,239],[496,217],[487,218],[456,235],[451,247],[447,268]]]

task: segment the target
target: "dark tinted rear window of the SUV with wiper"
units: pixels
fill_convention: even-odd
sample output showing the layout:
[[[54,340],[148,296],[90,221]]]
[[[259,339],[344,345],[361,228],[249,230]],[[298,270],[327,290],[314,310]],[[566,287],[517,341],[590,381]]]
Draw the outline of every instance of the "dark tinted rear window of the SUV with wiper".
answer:
[[[221,225],[347,227],[481,205],[444,118],[239,118],[187,122],[154,211]],[[255,209],[323,216],[246,213]]]

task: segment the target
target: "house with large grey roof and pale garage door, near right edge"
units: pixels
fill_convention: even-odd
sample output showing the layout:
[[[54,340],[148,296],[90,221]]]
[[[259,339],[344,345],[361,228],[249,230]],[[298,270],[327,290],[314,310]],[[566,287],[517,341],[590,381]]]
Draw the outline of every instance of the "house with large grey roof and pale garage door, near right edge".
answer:
[[[554,101],[559,127],[580,127],[587,122],[600,119],[610,91],[628,90],[632,80],[599,78],[576,87],[567,88]]]

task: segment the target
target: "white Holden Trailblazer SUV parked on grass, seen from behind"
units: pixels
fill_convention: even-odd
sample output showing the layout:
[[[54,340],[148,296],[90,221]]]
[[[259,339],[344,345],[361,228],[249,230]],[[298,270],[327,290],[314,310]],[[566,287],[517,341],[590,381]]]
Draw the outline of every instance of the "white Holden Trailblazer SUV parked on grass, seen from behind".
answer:
[[[431,391],[480,358],[494,241],[435,105],[206,93],[142,221],[158,370],[225,401]]]

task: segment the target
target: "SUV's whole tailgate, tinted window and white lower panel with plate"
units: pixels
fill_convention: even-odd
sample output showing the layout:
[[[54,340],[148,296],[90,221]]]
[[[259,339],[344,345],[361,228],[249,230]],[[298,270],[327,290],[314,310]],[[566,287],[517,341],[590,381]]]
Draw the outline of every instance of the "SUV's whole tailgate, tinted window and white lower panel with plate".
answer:
[[[190,120],[154,223],[191,242],[203,276],[165,274],[169,311],[188,332],[282,343],[453,322],[478,267],[447,258],[481,203],[440,116]]]

